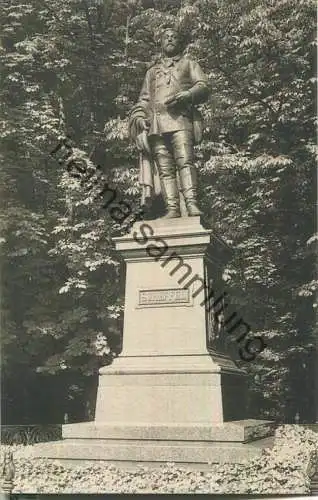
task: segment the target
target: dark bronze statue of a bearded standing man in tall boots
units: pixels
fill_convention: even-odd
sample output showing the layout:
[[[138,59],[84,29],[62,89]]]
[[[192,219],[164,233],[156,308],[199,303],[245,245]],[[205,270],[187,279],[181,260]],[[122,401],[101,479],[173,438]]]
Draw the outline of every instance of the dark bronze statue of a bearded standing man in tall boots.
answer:
[[[161,46],[163,57],[147,71],[130,113],[130,136],[148,158],[148,167],[154,162],[159,170],[165,218],[181,216],[179,187],[187,214],[200,215],[193,146],[201,141],[202,123],[195,105],[208,97],[207,77],[197,62],[182,54],[176,29],[162,32]],[[144,188],[154,187],[149,177],[149,172],[141,175]]]

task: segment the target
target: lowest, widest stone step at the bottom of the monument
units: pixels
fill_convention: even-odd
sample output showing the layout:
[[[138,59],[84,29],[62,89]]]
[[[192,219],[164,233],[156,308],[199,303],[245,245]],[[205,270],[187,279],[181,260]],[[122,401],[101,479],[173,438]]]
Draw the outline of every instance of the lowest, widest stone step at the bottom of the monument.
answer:
[[[66,439],[54,443],[33,446],[33,457],[58,459],[60,461],[104,461],[176,464],[241,463],[260,456],[262,449],[272,444],[272,438],[265,438],[252,444],[206,443],[191,441],[140,441]]]

